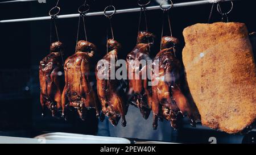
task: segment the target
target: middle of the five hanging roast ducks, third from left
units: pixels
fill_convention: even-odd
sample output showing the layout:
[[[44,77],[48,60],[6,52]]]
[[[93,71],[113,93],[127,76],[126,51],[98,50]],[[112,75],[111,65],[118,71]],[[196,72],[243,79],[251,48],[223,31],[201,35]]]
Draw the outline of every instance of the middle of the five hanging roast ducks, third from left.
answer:
[[[113,40],[108,40],[108,52],[96,66],[97,91],[98,98],[102,105],[102,113],[109,117],[113,125],[117,125],[122,118],[122,126],[126,126],[125,115],[128,105],[126,104],[125,91],[122,81],[117,78],[111,78],[111,69],[117,70],[114,64],[118,60],[117,53],[121,45]],[[111,59],[114,60],[114,66],[111,65]],[[105,77],[105,78],[104,78]]]

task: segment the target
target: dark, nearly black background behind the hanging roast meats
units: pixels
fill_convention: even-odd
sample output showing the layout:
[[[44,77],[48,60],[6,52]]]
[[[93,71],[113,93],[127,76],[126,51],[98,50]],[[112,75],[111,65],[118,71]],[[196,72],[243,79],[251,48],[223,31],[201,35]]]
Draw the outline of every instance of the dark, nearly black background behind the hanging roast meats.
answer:
[[[82,0],[60,0],[60,14],[77,13],[77,8],[83,2]],[[187,1],[174,0],[173,2]],[[47,0],[47,3],[34,1],[0,4],[0,20],[47,16],[49,9],[55,3],[56,1]],[[110,1],[108,0],[96,0],[91,3],[90,12],[103,11],[109,4]],[[136,0],[115,0],[113,5],[117,9],[138,7]],[[159,5],[159,3],[152,1],[150,5]],[[174,36],[180,39],[181,49],[184,45],[183,29],[195,23],[207,23],[210,7],[211,5],[200,5],[171,9],[172,32]],[[223,9],[229,9],[230,3],[226,2],[222,7]],[[255,12],[253,0],[235,1],[234,9],[229,14],[229,20],[246,23],[249,32],[253,32],[256,31]],[[113,16],[115,40],[122,44],[119,58],[125,58],[127,53],[135,46],[138,20],[138,12]],[[151,55],[154,57],[160,48],[162,11],[147,11],[147,20],[148,30],[156,35],[155,48],[151,51]],[[221,16],[215,6],[211,22],[220,20]],[[78,18],[57,19],[56,22],[60,41],[65,44],[64,58],[67,58],[75,52]],[[143,20],[142,25],[144,26]],[[96,44],[98,48],[95,62],[106,53],[106,30],[108,28],[109,22],[105,16],[89,16],[86,18],[88,41]],[[165,24],[165,30],[168,30],[167,23]],[[168,31],[164,33],[168,35]],[[0,133],[2,135],[31,137],[42,131],[85,134],[95,134],[97,132],[96,119],[81,123],[80,120],[74,117],[71,121],[64,123],[63,120],[50,116],[41,118],[38,64],[49,53],[49,34],[49,20],[0,23]],[[82,35],[80,39],[83,39]],[[253,44],[255,44],[255,41]],[[179,58],[181,58],[181,52]],[[90,127],[88,127],[88,124],[90,124]],[[210,133],[213,133],[213,131]],[[205,134],[209,135],[210,133]],[[191,133],[188,132],[187,134],[190,135]],[[192,143],[193,141],[188,142]]]

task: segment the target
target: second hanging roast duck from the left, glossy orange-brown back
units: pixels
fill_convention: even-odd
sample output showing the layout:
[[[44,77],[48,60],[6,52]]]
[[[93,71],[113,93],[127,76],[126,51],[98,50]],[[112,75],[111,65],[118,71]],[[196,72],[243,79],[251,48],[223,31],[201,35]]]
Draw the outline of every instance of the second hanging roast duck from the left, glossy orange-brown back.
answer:
[[[86,114],[91,109],[96,110],[97,117],[100,116],[100,104],[90,78],[90,60],[95,51],[94,44],[81,40],[77,43],[75,55],[65,61],[65,87],[62,94],[64,117],[69,109],[75,109],[82,120],[86,119]]]

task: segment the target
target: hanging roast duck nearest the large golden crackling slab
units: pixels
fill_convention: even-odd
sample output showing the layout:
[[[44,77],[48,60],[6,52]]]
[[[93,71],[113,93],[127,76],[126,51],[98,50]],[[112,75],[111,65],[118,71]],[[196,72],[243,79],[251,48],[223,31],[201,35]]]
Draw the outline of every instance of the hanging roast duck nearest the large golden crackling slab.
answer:
[[[177,43],[179,40],[175,37],[162,37],[162,50],[155,57],[159,64],[152,64],[152,82],[157,83],[152,86],[154,129],[158,126],[158,118],[170,120],[171,126],[176,129],[179,118],[185,114],[192,117],[188,100],[180,89],[181,63],[175,57]],[[156,68],[158,73],[154,72]]]

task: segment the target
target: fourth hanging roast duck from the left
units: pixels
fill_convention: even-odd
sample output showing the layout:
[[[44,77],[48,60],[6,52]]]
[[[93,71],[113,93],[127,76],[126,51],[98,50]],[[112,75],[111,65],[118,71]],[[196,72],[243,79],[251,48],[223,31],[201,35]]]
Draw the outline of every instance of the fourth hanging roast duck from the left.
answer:
[[[138,107],[144,119],[151,111],[152,89],[148,85],[147,60],[150,58],[150,47],[154,43],[154,35],[150,32],[139,32],[138,44],[127,57],[127,75],[129,87],[127,91],[128,102]],[[145,60],[144,65],[139,61]],[[144,74],[144,78],[142,76]]]

